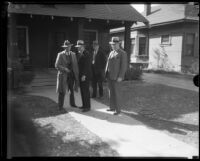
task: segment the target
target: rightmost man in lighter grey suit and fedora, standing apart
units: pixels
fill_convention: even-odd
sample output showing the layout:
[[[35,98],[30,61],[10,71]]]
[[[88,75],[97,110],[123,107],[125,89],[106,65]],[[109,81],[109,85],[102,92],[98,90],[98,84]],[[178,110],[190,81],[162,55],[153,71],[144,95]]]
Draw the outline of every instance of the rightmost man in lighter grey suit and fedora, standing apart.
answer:
[[[127,54],[120,48],[119,37],[112,37],[111,42],[112,51],[110,52],[106,63],[106,77],[108,79],[108,87],[110,93],[110,108],[107,111],[114,111],[114,115],[121,112],[121,81],[127,69]]]

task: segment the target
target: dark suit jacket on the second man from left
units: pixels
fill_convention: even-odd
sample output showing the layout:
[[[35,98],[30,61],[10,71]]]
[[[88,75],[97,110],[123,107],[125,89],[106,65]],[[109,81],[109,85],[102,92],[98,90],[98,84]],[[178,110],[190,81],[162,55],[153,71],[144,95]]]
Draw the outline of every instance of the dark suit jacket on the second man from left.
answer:
[[[87,50],[84,50],[82,55],[79,55],[78,66],[79,66],[79,77],[81,78],[83,75],[86,76],[86,80],[91,79],[91,55]]]

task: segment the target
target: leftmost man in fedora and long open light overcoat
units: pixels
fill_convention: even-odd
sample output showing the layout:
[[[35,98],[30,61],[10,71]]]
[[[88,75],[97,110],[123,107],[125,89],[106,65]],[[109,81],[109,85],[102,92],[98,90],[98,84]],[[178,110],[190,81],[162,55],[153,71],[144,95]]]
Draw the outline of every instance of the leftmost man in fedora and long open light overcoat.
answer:
[[[56,92],[58,93],[59,110],[63,110],[64,97],[66,90],[70,92],[70,105],[77,107],[74,100],[74,90],[78,91],[79,70],[76,54],[71,51],[71,44],[68,40],[64,41],[64,51],[58,53],[55,68],[58,70]]]

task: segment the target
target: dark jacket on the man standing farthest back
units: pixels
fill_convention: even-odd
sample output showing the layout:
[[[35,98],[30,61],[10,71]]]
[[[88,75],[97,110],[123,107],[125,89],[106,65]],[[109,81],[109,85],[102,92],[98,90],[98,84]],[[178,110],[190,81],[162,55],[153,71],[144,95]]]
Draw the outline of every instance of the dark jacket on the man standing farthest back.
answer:
[[[94,55],[94,51],[92,52]],[[106,66],[106,55],[101,49],[98,50],[93,64],[95,74],[103,74]]]

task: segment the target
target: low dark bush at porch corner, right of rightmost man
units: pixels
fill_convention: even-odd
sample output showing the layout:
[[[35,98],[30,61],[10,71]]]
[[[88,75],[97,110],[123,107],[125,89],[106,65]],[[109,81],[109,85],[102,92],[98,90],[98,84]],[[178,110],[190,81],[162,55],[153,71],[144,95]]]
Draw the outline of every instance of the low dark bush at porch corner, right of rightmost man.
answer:
[[[142,68],[139,64],[130,64],[126,71],[125,80],[140,80],[142,77]]]

